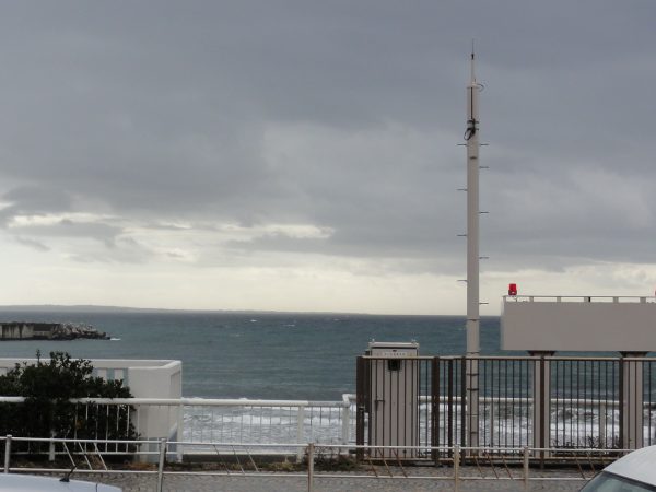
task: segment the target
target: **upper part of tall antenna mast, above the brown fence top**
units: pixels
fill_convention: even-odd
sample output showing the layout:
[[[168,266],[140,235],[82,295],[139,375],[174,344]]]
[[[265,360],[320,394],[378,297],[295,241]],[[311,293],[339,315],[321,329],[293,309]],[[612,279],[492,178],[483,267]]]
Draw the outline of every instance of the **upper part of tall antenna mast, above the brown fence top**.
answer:
[[[467,86],[467,355],[480,353],[479,337],[479,119],[478,93],[471,46],[471,75]]]

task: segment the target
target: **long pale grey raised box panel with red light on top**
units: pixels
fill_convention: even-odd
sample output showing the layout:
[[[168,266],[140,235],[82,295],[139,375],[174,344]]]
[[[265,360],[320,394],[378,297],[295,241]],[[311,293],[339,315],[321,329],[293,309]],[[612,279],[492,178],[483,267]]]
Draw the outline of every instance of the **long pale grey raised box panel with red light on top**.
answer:
[[[532,297],[530,297],[532,298]],[[656,303],[523,301],[507,297],[501,348],[527,351],[656,351]],[[612,298],[611,298],[612,300]]]

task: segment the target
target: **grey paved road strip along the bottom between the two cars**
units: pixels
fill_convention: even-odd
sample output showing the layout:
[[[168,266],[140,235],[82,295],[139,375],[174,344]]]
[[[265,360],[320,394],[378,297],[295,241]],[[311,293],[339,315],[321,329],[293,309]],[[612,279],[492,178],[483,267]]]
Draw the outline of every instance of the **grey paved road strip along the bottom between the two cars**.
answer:
[[[406,479],[402,476],[393,479],[386,478],[356,478],[354,476],[348,478],[331,478],[328,475],[317,476],[315,478],[315,492],[359,492],[359,491],[379,491],[379,492],[396,492],[396,491],[454,491],[455,485],[453,479],[446,480],[450,469],[437,469],[435,471],[426,471],[420,469],[419,472],[423,476],[431,473],[433,478],[429,479]],[[494,477],[490,470],[484,470],[485,476]],[[500,477],[504,477],[501,470],[497,470]],[[538,472],[531,472],[532,476],[539,476]],[[79,479],[96,480],[107,484],[121,487],[125,492],[143,492],[154,491],[156,488],[156,477],[154,475],[94,475],[85,477],[84,473],[75,473]],[[465,469],[464,475],[469,477],[480,477],[477,469]],[[574,492],[583,487],[582,481],[572,480],[581,477],[572,471],[550,471],[542,473],[543,477],[554,479],[561,477],[561,480],[549,481],[531,481],[530,491],[554,491],[554,492]],[[443,479],[440,479],[442,477]],[[505,475],[507,477],[507,475]],[[570,480],[562,480],[569,478]],[[207,475],[167,475],[164,477],[164,491],[166,492],[209,492],[209,491],[225,491],[225,492],[305,492],[307,491],[306,477],[290,477],[289,475],[279,476],[207,476]],[[462,492],[509,492],[523,491],[524,483],[517,477],[517,480],[464,480],[460,483]]]

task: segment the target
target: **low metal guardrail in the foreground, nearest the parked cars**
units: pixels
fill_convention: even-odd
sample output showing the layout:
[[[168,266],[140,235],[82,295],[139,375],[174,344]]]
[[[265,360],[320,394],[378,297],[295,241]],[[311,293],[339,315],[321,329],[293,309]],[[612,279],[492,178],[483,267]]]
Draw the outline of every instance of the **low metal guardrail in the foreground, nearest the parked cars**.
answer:
[[[104,441],[104,440],[62,440],[62,438],[25,438],[0,436],[0,448],[3,453],[3,471],[9,472],[48,472],[65,473],[71,470],[71,467],[43,468],[12,466],[12,445],[16,442],[40,442],[49,443],[66,449],[71,467],[80,466],[75,473],[94,475],[94,480],[112,482],[113,477],[120,475],[136,475],[149,477],[156,482],[156,491],[161,492],[167,479],[173,480],[180,476],[189,481],[194,477],[202,476],[214,477],[221,480],[222,477],[232,477],[247,480],[254,477],[271,477],[286,480],[298,480],[307,483],[307,491],[313,492],[317,481],[341,480],[375,480],[380,482],[380,489],[387,481],[413,483],[415,481],[450,481],[454,490],[459,491],[461,484],[466,481],[484,481],[485,490],[490,490],[493,482],[512,481],[519,484],[524,490],[530,490],[532,482],[553,482],[553,481],[577,481],[584,482],[593,478],[604,466],[620,456],[623,456],[629,449],[563,449],[555,448],[535,448],[535,447],[511,447],[511,448],[489,448],[489,447],[460,447],[458,445],[446,447],[425,447],[425,446],[353,446],[342,444],[331,444],[319,446],[315,443],[303,444],[303,459],[293,467],[286,462],[278,471],[271,466],[266,466],[258,460],[259,450],[266,447],[289,448],[298,443],[261,445],[234,444],[220,442],[184,442],[159,440],[155,447],[151,450],[136,452],[147,456],[154,457],[154,462],[150,468],[134,469],[121,466],[107,466],[107,459],[112,456],[110,452],[101,449],[113,448],[114,446],[131,446],[134,449],[141,448],[142,444],[153,444],[144,441]],[[167,461],[167,456],[175,455],[171,449],[180,446],[203,446],[212,448],[216,456],[216,467],[202,471],[180,470],[175,464]],[[83,449],[91,448],[92,453],[85,453]],[[385,450],[385,452],[383,452]],[[407,454],[437,454],[445,456],[442,467],[412,467],[401,460],[394,458],[384,458],[384,456],[399,456],[406,450]],[[364,459],[356,462],[354,454],[362,452]],[[551,457],[561,456],[561,468],[540,467],[541,457],[549,455]],[[90,459],[90,455],[95,457]],[[242,459],[239,459],[239,456]],[[75,458],[78,459],[75,461]],[[13,458],[15,460],[15,458]],[[101,464],[96,468],[92,462]],[[339,465],[348,465],[340,470]],[[282,464],[284,465],[284,464]],[[345,471],[348,470],[348,471]],[[342,482],[343,484],[343,482]],[[399,487],[394,485],[397,490]],[[187,487],[189,488],[189,487]],[[191,485],[192,488],[192,485]]]

